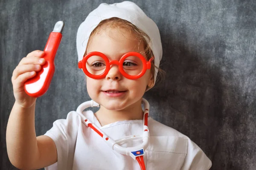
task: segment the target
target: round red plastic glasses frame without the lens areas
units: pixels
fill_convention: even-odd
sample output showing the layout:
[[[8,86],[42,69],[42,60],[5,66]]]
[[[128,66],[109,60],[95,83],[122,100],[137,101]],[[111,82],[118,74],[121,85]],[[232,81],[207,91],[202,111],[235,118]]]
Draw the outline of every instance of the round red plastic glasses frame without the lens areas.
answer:
[[[105,68],[105,71],[102,74],[99,74],[99,75],[90,74],[90,72],[87,70],[87,68],[86,68],[87,59],[89,59],[92,56],[99,56],[99,57],[102,57],[105,60],[106,68]],[[130,56],[139,57],[140,60],[143,63],[143,68],[142,68],[141,72],[137,75],[134,75],[134,76],[131,76],[131,75],[125,73],[124,68],[123,68],[123,62],[125,61],[125,59],[127,57],[130,57]],[[90,53],[86,54],[83,57],[83,59],[78,62],[78,68],[82,69],[84,71],[84,74],[86,74],[90,78],[103,79],[107,76],[111,65],[118,65],[119,71],[124,77],[126,77],[128,79],[138,79],[138,78],[142,77],[145,74],[147,69],[151,69],[151,62],[153,61],[153,59],[154,59],[154,57],[151,57],[149,59],[149,61],[147,61],[142,54],[132,51],[132,52],[125,53],[119,59],[119,61],[118,60],[109,61],[108,57],[105,54],[103,54],[101,52],[98,52],[98,51],[93,51],[93,52],[90,52]]]

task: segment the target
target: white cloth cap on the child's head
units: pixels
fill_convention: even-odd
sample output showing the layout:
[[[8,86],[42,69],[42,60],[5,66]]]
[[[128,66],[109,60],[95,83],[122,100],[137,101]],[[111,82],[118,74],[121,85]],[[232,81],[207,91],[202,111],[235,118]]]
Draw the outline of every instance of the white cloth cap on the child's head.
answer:
[[[154,54],[154,64],[159,67],[163,50],[157,25],[142,11],[139,6],[130,1],[113,4],[102,3],[98,8],[88,14],[85,21],[81,23],[77,31],[76,48],[78,60],[81,61],[83,58],[88,39],[93,29],[96,28],[102,20],[111,17],[118,17],[123,20],[127,20],[148,35],[151,39],[150,47]],[[156,68],[154,83],[156,81],[157,71],[158,69]]]

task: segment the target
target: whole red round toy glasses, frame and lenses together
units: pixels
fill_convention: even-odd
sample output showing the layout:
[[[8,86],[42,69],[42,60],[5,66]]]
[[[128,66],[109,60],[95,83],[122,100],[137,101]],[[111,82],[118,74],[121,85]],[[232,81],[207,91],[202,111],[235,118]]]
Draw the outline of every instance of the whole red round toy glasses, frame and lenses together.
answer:
[[[147,69],[151,68],[154,57],[146,61],[145,57],[137,52],[124,54],[119,61],[109,61],[108,57],[101,52],[90,52],[79,61],[78,67],[82,68],[84,74],[93,79],[106,77],[111,65],[118,65],[120,73],[128,79],[138,79],[142,77]]]

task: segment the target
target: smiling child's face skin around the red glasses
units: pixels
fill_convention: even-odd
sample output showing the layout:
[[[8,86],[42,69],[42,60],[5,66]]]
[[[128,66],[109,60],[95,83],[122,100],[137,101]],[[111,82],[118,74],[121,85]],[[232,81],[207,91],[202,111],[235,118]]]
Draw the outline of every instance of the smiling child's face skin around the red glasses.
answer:
[[[105,54],[109,61],[119,61],[123,54],[130,51],[141,53],[145,57],[142,42],[138,43],[134,35],[128,31],[115,28],[106,28],[95,34],[87,47],[87,53],[92,51]],[[90,98],[111,111],[137,106],[147,85],[151,87],[154,81],[150,69],[143,77],[131,80],[122,76],[117,65],[111,65],[110,71],[103,79],[86,77],[86,80]]]

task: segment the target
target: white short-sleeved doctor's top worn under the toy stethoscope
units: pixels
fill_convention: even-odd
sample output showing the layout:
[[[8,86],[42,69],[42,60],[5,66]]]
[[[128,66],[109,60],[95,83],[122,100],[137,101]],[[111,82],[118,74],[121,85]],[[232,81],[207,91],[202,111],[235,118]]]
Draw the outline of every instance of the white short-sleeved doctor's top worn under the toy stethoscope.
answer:
[[[84,116],[114,140],[124,136],[142,135],[143,120],[129,120],[101,126],[92,111]],[[45,133],[55,142],[58,161],[45,170],[140,170],[130,156],[116,153],[95,131],[81,122],[76,111],[67,119],[59,119]],[[146,170],[209,170],[212,162],[187,136],[148,117],[150,142],[145,151]],[[142,141],[132,141],[131,147]]]

